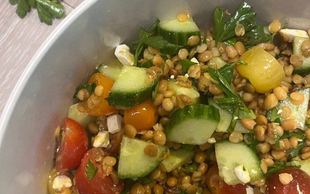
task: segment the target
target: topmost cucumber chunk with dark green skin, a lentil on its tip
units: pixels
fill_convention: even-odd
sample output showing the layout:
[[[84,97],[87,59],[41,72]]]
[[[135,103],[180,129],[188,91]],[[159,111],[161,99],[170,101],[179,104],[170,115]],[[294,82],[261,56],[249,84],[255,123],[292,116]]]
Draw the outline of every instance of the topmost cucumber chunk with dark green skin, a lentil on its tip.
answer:
[[[186,22],[180,22],[176,18],[164,21],[157,26],[157,34],[162,36],[169,43],[185,46],[188,38],[191,36],[198,36],[201,44],[200,30],[193,18],[190,17]]]

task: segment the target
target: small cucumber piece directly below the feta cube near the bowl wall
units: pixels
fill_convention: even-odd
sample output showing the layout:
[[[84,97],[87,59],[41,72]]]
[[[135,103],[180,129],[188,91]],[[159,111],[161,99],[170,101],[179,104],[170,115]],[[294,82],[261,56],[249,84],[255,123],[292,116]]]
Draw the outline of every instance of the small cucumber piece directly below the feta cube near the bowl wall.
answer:
[[[107,65],[100,64],[96,67],[99,73],[104,74],[113,82],[118,78],[118,75],[122,71],[123,64],[117,59],[112,60]]]

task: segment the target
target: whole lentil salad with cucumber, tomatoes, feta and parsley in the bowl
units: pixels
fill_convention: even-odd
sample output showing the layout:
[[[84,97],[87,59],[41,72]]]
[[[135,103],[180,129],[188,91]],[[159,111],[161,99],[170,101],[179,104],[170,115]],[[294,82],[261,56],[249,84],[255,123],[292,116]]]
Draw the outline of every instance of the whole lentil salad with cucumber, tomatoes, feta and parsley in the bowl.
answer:
[[[310,30],[255,16],[179,13],[117,46],[55,131],[49,192],[310,193]]]

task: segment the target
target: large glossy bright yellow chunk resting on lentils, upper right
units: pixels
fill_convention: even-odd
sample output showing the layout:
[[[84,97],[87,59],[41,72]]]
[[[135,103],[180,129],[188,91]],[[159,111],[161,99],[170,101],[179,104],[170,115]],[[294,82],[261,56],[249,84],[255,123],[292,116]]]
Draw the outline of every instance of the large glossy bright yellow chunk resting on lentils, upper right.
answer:
[[[237,70],[243,77],[250,80],[256,92],[269,92],[285,77],[284,70],[278,61],[262,48],[252,47],[243,53],[240,59],[248,65],[238,65]]]

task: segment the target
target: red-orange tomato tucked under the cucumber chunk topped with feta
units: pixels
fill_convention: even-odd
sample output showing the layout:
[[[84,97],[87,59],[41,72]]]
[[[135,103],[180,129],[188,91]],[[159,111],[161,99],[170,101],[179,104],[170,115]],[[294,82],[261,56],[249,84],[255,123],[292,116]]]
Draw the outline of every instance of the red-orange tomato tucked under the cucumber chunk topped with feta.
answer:
[[[211,178],[212,177],[212,178]],[[244,194],[246,193],[246,185],[237,184],[237,185],[228,185],[224,182],[224,180],[221,179],[221,182],[223,182],[223,186],[219,187],[219,179],[214,178],[219,177],[219,167],[217,164],[213,165],[206,174],[206,184],[208,185],[210,191],[212,194]],[[213,184],[211,185],[210,178],[213,179]]]

